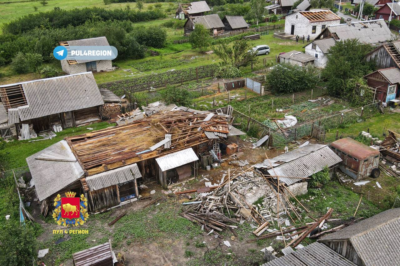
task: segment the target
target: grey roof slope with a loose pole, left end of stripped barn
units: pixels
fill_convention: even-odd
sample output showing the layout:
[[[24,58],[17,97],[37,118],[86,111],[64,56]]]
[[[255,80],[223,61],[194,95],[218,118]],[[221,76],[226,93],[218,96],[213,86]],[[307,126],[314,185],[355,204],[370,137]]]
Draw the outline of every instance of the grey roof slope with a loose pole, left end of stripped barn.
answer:
[[[36,158],[41,158],[40,160]],[[68,161],[47,161],[60,159]],[[84,174],[65,140],[59,141],[26,158],[39,200],[80,179]]]

